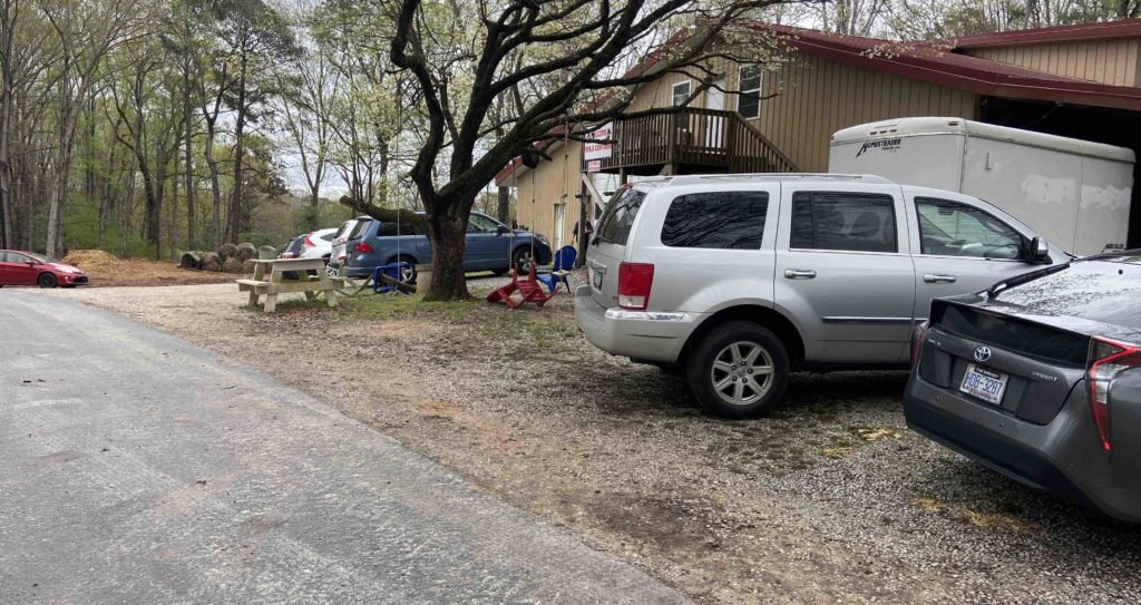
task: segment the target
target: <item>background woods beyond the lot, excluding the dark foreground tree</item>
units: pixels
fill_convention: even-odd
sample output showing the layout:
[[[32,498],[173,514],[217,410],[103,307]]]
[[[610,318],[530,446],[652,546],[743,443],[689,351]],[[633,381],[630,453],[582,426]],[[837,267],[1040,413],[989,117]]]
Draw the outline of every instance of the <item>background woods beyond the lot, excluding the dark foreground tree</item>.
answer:
[[[426,15],[454,30],[491,5],[444,0]],[[843,0],[758,16],[930,39],[1139,9],[1141,0]],[[0,0],[0,248],[172,258],[225,242],[281,245],[350,216],[322,192],[418,208],[407,171],[430,116],[390,63],[393,14],[382,0]],[[467,74],[448,75],[445,98],[462,100]],[[484,136],[502,136],[495,124],[512,103],[541,94],[517,88],[496,100]],[[509,202],[500,189],[477,208],[507,218]]]

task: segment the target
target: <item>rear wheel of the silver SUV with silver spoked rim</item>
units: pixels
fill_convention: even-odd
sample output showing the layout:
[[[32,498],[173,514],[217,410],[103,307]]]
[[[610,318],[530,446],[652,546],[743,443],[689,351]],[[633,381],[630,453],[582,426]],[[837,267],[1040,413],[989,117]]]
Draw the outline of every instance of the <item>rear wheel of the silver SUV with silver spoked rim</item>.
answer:
[[[753,322],[731,321],[697,344],[686,366],[686,382],[709,413],[758,418],[784,397],[788,369],[788,353],[776,334]]]

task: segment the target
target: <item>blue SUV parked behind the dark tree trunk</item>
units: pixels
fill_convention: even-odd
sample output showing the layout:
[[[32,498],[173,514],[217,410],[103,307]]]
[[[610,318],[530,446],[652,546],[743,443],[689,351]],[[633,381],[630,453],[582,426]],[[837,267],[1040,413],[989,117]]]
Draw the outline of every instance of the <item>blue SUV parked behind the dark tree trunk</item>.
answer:
[[[354,227],[345,244],[345,272],[349,277],[367,277],[377,267],[397,261],[413,267],[431,263],[431,244],[423,229],[402,221],[397,235],[395,221],[378,219],[364,219]],[[518,264],[526,272],[532,263],[547,265],[550,261],[551,247],[547,237],[537,233],[512,232],[507,225],[480,212],[472,212],[468,218],[463,271],[503,274]],[[415,269],[406,269],[402,280],[415,280]]]

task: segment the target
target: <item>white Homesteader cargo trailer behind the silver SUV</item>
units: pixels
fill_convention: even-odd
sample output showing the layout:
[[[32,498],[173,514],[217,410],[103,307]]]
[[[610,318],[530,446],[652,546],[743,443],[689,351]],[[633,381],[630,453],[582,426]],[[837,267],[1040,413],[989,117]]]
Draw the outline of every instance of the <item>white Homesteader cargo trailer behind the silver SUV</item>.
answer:
[[[832,135],[828,171],[981,197],[1078,255],[1125,247],[1133,151],[958,118],[903,118]]]

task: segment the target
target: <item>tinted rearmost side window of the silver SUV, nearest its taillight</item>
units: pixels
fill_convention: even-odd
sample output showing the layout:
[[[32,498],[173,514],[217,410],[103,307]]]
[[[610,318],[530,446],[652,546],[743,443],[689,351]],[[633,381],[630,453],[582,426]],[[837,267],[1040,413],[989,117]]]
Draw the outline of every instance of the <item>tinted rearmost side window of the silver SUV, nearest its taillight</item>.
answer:
[[[726,191],[680,195],[670,202],[662,243],[672,248],[761,248],[768,192]]]

